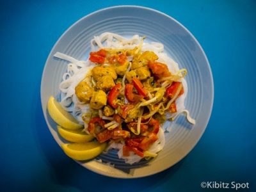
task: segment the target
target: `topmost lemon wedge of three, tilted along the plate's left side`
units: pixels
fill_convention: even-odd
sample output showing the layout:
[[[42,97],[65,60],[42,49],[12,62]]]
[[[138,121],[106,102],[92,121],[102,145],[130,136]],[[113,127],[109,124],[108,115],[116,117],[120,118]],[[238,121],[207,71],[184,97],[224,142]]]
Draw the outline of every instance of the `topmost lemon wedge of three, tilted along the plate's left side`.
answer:
[[[61,127],[66,129],[80,129],[83,127],[83,125],[79,124],[74,116],[65,111],[60,103],[52,96],[48,100],[47,109],[54,122],[61,125]]]

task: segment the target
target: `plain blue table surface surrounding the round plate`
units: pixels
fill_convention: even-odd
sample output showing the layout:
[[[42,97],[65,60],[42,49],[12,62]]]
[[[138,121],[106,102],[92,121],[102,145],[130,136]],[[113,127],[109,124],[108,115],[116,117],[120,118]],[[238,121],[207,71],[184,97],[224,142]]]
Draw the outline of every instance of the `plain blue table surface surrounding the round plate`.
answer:
[[[172,168],[141,179],[104,177],[65,156],[40,102],[56,40],[84,15],[120,4],[179,20],[204,48],[214,77],[211,119],[196,147]],[[203,181],[248,182],[256,191],[255,1],[11,0],[1,1],[0,20],[1,191],[207,191]]]

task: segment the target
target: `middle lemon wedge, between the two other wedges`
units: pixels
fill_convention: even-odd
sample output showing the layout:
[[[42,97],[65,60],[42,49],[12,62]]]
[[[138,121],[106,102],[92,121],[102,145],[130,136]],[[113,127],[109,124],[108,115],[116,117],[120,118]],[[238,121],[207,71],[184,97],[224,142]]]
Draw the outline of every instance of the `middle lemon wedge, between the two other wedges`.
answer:
[[[92,141],[94,138],[92,135],[86,134],[83,129],[64,129],[60,125],[57,126],[57,129],[62,138],[74,143],[84,143]]]

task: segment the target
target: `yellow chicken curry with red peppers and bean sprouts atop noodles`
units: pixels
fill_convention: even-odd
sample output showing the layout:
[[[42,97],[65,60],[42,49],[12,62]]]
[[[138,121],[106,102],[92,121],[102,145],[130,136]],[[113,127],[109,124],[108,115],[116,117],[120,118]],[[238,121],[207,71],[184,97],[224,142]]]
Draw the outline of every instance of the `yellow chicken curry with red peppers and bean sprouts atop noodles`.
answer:
[[[90,81],[76,86],[76,96],[95,110],[88,132],[100,143],[124,141],[123,155],[132,151],[140,157],[157,140],[166,111],[177,112],[175,100],[184,93],[180,79],[152,51],[100,49],[90,52],[95,63]],[[183,76],[182,76],[183,75]]]

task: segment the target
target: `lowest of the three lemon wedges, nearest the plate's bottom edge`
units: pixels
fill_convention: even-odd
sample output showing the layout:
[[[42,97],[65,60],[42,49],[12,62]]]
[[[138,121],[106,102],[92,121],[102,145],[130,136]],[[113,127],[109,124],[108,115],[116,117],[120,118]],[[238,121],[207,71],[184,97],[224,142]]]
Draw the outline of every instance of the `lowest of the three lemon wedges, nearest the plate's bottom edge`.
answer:
[[[79,161],[93,159],[99,156],[107,147],[107,143],[88,142],[88,143],[66,143],[62,144],[65,154],[72,159]]]

